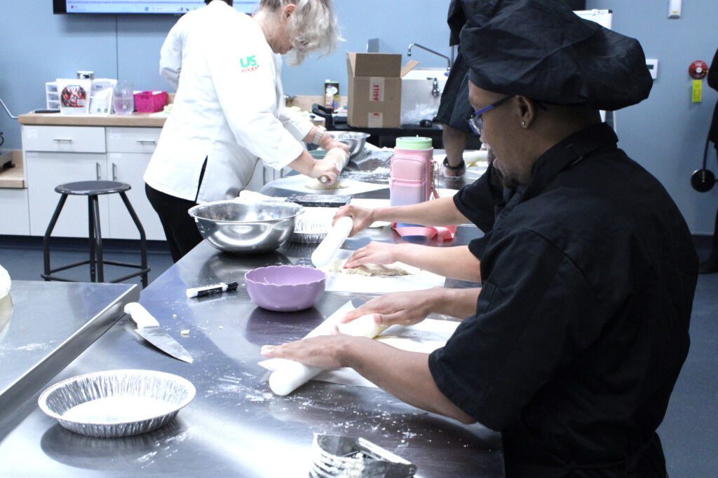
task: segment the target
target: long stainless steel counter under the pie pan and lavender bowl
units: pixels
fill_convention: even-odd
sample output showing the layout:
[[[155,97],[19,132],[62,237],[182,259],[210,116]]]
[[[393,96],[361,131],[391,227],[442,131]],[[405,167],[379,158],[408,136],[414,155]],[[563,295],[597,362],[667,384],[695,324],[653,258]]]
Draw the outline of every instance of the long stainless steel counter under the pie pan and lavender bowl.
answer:
[[[370,231],[345,247],[390,233]],[[461,226],[454,244],[477,230]],[[353,295],[326,292],[302,312],[255,307],[244,272],[268,264],[304,263],[312,247],[233,257],[203,242],[141,294],[141,303],[194,356],[174,360],[134,333],[123,317],[55,383],[91,371],[146,368],[183,376],[197,396],[177,420],[150,434],[91,439],[62,429],[37,408],[37,394],[6,419],[0,463],[6,476],[306,477],[315,432],[362,436],[418,465],[419,477],[503,477],[500,435],[480,425],[426,413],[377,388],[310,382],[274,396],[257,362],[261,345],[301,338]],[[237,280],[236,292],[187,299],[187,287]],[[360,296],[362,297],[362,296]],[[180,330],[190,331],[187,337]]]

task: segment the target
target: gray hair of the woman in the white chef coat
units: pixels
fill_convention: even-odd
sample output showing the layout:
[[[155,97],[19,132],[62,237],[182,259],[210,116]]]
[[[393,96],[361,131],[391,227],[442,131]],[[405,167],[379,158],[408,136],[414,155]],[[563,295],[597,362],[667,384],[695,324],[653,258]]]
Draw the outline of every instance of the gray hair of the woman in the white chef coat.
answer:
[[[292,51],[289,63],[300,64],[311,52],[330,54],[342,40],[332,0],[261,0],[260,9],[276,11],[294,4],[292,14]]]

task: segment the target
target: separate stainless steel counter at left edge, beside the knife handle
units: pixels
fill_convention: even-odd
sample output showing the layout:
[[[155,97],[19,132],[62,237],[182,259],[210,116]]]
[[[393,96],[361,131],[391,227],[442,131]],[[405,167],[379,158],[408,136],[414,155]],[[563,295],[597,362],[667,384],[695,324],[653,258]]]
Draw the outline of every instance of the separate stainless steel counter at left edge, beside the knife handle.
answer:
[[[139,286],[14,281],[0,300],[0,421],[139,299]]]

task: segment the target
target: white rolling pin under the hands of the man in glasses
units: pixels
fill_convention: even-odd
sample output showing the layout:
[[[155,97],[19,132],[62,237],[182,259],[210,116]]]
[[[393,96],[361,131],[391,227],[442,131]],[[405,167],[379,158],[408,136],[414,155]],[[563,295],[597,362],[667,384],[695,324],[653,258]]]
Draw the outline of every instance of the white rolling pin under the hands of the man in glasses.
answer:
[[[346,335],[366,338],[375,338],[386,329],[374,322],[374,314],[362,315],[348,324],[337,325],[337,328]],[[321,368],[307,367],[302,363],[287,360],[269,376],[269,388],[277,395],[289,395],[320,372]]]

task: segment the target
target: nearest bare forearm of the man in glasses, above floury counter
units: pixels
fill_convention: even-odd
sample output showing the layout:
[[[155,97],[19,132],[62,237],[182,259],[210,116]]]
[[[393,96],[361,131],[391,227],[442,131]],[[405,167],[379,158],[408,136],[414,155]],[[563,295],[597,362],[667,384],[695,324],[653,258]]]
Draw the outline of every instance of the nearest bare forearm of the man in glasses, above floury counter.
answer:
[[[425,353],[405,352],[362,338],[348,341],[340,355],[345,366],[354,368],[401,401],[465,424],[475,422],[439,391],[429,371],[429,355]]]

